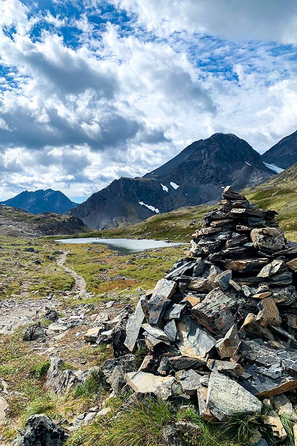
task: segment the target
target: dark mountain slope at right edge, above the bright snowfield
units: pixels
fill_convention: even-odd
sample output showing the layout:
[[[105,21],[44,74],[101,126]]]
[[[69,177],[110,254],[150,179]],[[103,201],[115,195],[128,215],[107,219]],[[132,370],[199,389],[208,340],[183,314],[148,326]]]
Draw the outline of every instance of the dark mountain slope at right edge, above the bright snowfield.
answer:
[[[281,139],[262,155],[263,163],[287,169],[297,163],[297,131]]]

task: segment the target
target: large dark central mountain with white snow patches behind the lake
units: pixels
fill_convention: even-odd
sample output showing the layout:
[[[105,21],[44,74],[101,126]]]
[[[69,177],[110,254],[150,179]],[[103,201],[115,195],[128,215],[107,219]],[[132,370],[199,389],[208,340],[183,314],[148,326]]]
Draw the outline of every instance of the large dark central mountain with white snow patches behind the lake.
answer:
[[[228,184],[239,190],[274,174],[245,140],[215,133],[143,177],[112,181],[67,214],[96,229],[125,226],[216,200]]]

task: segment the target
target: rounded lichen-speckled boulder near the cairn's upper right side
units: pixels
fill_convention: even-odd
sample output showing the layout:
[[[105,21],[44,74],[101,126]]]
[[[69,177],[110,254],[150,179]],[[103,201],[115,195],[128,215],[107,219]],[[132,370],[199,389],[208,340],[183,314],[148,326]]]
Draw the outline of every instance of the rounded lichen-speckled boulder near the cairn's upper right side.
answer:
[[[276,227],[252,229],[250,238],[255,248],[262,252],[274,253],[285,248],[285,238]]]

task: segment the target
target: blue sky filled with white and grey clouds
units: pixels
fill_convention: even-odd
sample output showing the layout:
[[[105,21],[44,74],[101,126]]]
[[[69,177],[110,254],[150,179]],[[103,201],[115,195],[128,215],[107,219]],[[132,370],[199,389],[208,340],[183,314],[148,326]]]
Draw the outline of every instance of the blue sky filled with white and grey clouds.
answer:
[[[0,1],[0,199],[82,201],[215,132],[297,130],[296,0]]]

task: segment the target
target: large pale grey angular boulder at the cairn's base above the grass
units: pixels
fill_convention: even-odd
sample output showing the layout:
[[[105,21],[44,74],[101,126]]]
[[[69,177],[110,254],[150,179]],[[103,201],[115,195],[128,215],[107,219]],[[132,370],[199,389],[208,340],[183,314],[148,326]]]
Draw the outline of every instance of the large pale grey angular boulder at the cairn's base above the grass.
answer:
[[[236,381],[218,373],[211,373],[206,408],[218,420],[227,421],[232,417],[260,414],[262,403]]]

